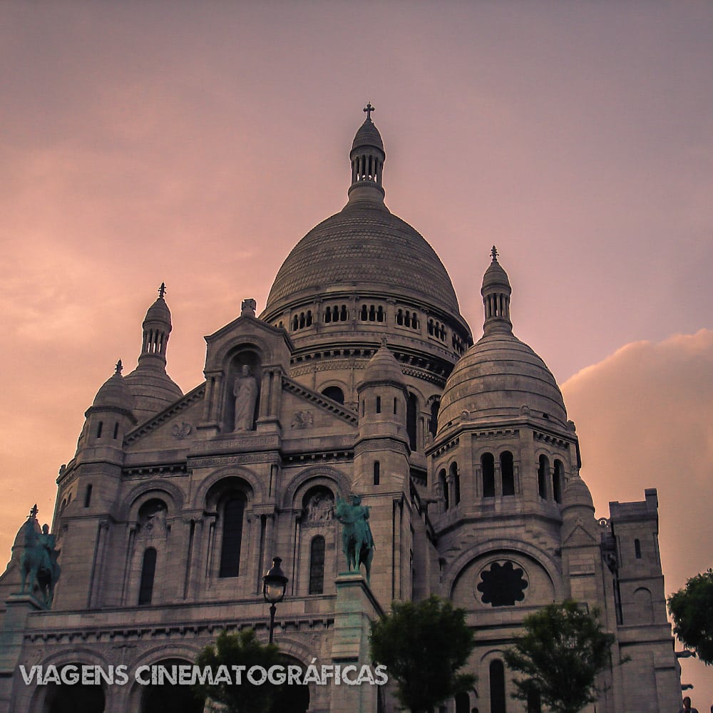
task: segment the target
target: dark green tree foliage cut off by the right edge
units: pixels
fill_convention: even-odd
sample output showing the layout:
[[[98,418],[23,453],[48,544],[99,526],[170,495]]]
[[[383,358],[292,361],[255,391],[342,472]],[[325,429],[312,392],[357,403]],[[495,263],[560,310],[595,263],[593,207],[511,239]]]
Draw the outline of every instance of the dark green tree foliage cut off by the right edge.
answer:
[[[690,578],[668,598],[674,634],[707,665],[713,665],[713,570]]]

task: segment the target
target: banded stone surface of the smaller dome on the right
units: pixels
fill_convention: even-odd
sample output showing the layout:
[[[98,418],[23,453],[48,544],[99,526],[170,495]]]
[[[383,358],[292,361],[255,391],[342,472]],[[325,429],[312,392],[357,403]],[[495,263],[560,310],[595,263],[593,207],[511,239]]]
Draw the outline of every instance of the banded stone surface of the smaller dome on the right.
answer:
[[[512,334],[482,337],[448,376],[438,412],[438,431],[460,419],[503,419],[523,415],[563,427],[567,412],[555,377],[527,344]]]

